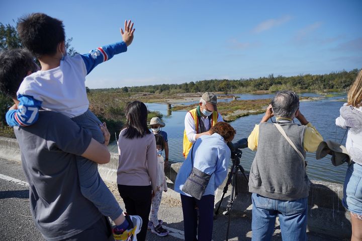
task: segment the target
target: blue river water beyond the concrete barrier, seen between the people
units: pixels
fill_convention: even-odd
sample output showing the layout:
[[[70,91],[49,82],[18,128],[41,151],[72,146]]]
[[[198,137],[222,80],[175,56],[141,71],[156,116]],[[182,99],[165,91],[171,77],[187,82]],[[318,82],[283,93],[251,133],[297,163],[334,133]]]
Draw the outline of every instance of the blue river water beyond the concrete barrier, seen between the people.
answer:
[[[274,95],[249,95],[239,94],[237,95],[239,100],[253,100],[253,99],[270,99]],[[316,97],[318,95],[314,93],[302,94],[305,97]],[[342,98],[346,98],[345,95],[338,97],[331,97],[319,101],[305,101],[300,103],[300,111],[310,121],[323,136],[324,140],[333,140],[340,142],[345,134],[345,130],[335,126],[335,118],[339,116],[339,108],[343,105],[343,102],[338,101]],[[231,101],[232,99],[220,99],[221,101]],[[195,102],[183,103],[190,105]],[[167,105],[145,103],[147,108],[152,111],[159,111],[163,114],[163,121],[166,126],[162,130],[167,132],[168,146],[169,146],[169,159],[175,162],[183,162],[184,157],[182,154],[183,148],[183,134],[184,134],[184,119],[186,111],[173,111],[167,113]],[[170,114],[170,115],[169,115]],[[249,115],[241,117],[233,122],[230,122],[236,130],[234,142],[244,137],[248,137],[255,124],[259,123],[263,114]],[[295,119],[297,122],[297,120]],[[342,144],[345,144],[346,136],[344,137]],[[111,151],[117,151],[116,146],[110,147]],[[252,160],[255,156],[255,152],[248,148],[242,149],[242,157],[240,164],[246,170],[250,170]],[[308,167],[307,173],[312,180],[322,180],[334,183],[343,183],[345,171],[347,165],[343,164],[339,167],[334,167],[330,162],[330,157],[324,157],[316,160],[315,153],[308,153],[307,158]]]

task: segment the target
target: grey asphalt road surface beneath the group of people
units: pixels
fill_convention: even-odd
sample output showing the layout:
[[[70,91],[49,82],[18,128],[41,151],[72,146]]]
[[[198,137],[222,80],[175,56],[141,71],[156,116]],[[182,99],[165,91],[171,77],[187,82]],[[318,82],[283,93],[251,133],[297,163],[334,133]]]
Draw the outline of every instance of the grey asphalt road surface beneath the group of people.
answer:
[[[36,229],[29,209],[29,188],[23,183],[4,180],[6,177],[25,181],[20,163],[0,158],[0,241],[38,241],[45,240]],[[122,202],[116,184],[108,183],[110,190]],[[171,190],[170,190],[171,191]],[[159,237],[147,231],[146,240],[179,241],[184,240],[184,222],[181,203],[164,193],[158,218],[163,220],[163,226],[170,234]],[[223,210],[221,210],[222,212]],[[245,215],[231,213],[229,240],[251,240],[251,219]],[[219,214],[214,221],[213,240],[226,240],[228,216]],[[326,235],[308,233],[308,239],[314,241],[341,240]],[[280,228],[277,226],[272,240],[282,240]],[[348,239],[346,239],[348,240]]]

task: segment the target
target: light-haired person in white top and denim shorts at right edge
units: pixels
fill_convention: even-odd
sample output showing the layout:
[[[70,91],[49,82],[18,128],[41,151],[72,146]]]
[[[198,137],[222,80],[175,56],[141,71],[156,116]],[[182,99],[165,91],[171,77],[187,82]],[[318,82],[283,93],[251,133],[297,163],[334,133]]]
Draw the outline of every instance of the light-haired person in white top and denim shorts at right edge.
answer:
[[[352,241],[362,240],[362,70],[348,91],[347,103],[340,110],[336,125],[348,129],[346,149],[352,164],[343,186],[343,206],[350,212]]]

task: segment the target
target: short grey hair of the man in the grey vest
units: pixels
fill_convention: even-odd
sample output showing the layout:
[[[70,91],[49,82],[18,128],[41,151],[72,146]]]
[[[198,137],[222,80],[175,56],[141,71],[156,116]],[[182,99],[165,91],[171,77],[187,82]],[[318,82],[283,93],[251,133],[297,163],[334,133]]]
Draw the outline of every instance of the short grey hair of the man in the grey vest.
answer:
[[[299,97],[291,91],[280,91],[272,99],[273,112],[276,117],[291,118],[299,108]]]

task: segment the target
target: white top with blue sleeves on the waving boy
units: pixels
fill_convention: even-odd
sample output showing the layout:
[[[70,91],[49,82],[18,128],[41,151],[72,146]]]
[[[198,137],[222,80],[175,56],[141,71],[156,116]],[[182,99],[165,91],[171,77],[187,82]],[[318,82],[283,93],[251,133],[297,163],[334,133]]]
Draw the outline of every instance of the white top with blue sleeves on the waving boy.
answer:
[[[65,56],[60,65],[39,70],[24,78],[17,98],[18,110],[6,114],[10,126],[28,126],[38,119],[40,108],[60,112],[70,118],[83,114],[89,106],[85,76],[98,64],[127,51],[125,42],[99,47],[87,54]]]

